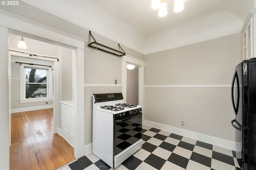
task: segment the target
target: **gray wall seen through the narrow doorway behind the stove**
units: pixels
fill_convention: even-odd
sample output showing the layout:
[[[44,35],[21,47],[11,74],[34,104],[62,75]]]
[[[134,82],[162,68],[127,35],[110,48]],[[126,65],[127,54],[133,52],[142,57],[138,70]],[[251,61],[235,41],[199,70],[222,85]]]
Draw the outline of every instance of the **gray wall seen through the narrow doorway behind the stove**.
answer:
[[[126,103],[139,104],[139,69],[132,70],[126,68]]]

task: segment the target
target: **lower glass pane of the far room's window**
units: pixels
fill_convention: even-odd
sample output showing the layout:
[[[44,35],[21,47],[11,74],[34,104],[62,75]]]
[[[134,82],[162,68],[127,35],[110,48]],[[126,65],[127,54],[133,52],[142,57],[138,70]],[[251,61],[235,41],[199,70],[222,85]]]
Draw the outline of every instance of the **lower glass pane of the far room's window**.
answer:
[[[47,84],[26,84],[26,99],[46,98]]]

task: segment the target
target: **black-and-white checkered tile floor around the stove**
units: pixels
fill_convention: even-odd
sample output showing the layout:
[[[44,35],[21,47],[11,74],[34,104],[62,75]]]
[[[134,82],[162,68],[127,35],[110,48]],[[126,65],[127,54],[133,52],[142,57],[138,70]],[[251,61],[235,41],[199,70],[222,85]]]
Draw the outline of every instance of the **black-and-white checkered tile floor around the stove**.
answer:
[[[224,149],[161,131],[142,127],[142,149],[124,161],[117,170],[240,170],[241,152]],[[60,170],[111,169],[93,153]]]

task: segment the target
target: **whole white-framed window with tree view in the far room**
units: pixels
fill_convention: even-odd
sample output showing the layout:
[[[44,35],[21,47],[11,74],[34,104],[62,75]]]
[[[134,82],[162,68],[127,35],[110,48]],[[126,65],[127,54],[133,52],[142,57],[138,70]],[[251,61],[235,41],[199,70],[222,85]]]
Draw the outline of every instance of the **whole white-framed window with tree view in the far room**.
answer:
[[[53,70],[49,66],[20,66],[20,103],[52,100]]]

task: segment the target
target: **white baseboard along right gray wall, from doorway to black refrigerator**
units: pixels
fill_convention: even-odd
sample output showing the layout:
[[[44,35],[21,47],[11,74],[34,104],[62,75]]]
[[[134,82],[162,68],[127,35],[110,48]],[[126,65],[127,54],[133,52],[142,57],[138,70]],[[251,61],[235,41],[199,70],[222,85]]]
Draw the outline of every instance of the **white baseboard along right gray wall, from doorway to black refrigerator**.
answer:
[[[238,151],[238,152],[240,152],[242,150],[242,142],[229,141],[226,139],[213,137],[210,135],[205,135],[205,134],[201,134],[201,133],[197,133],[197,132],[193,132],[193,131],[188,131],[185,129],[180,129],[177,127],[172,127],[169,125],[164,125],[161,123],[156,123],[156,122],[152,122],[152,121],[148,121],[148,120],[144,121],[144,125],[154,127],[156,129],[160,129],[163,131],[175,133],[177,135],[181,135],[181,136],[188,137],[191,139],[195,139],[197,141],[202,141],[205,143],[216,145],[218,147],[223,147],[223,148]]]

